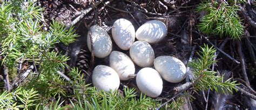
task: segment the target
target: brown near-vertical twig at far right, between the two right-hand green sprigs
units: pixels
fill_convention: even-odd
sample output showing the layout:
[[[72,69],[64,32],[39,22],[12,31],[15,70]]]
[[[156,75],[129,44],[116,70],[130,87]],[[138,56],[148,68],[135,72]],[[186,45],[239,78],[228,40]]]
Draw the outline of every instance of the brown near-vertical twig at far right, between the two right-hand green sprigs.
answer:
[[[250,85],[250,81],[247,77],[247,73],[246,73],[246,67],[245,67],[245,59],[244,59],[244,54],[242,54],[242,46],[241,46],[241,41],[237,40],[237,50],[238,50],[238,55],[240,57],[241,60],[241,66],[242,66],[242,77],[244,77],[244,80],[246,81],[246,83],[248,85]]]

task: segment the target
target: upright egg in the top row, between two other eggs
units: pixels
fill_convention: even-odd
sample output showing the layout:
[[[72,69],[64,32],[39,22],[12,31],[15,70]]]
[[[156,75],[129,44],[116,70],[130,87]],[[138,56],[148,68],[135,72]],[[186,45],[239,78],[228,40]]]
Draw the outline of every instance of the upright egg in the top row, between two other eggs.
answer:
[[[132,23],[123,18],[117,19],[113,24],[112,37],[120,49],[129,50],[135,40],[135,29]]]

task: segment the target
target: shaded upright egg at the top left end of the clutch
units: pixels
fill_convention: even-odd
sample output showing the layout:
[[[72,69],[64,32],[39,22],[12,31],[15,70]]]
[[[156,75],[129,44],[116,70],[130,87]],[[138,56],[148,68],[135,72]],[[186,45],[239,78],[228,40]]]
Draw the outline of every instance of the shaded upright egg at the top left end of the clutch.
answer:
[[[91,51],[91,36],[94,55],[98,58],[109,56],[112,51],[112,41],[110,36],[97,25],[91,26],[90,30],[91,32],[88,32],[87,34],[87,46],[89,50]]]

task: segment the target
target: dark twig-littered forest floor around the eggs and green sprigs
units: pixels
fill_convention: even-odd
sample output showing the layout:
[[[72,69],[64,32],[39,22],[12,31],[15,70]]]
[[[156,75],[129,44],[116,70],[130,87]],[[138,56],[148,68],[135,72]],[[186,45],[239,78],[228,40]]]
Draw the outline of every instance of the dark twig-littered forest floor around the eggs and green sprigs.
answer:
[[[191,53],[198,52],[200,46],[204,44],[214,46],[218,50],[216,52],[218,56],[215,58],[217,63],[212,67],[214,71],[220,74],[230,74],[229,77],[233,78],[232,80],[237,80],[241,84],[240,88],[251,92],[255,96],[255,91],[251,91],[250,88],[256,89],[256,27],[248,22],[248,18],[245,18],[246,16],[240,14],[245,31],[245,35],[241,36],[240,40],[225,36],[203,35],[198,30],[197,25],[204,13],[198,13],[194,10],[199,3],[200,1],[193,0],[176,2],[118,0],[100,3],[57,0],[41,2],[41,5],[45,9],[45,30],[48,30],[52,19],[66,26],[75,26],[75,30],[80,37],[77,37],[77,41],[69,46],[59,44],[58,50],[65,51],[68,54],[70,67],[79,67],[84,73],[86,72],[87,83],[91,83],[90,74],[95,66],[109,64],[108,58],[91,57],[86,45],[86,36],[90,26],[102,26],[111,35],[111,26],[116,19],[125,18],[130,20],[135,30],[146,21],[157,19],[167,25],[168,34],[161,42],[151,45],[156,57],[163,55],[174,56],[183,61],[184,64],[187,64]],[[250,9],[246,9],[245,12],[250,12]],[[251,17],[255,23],[256,16],[252,15]],[[129,51],[119,49],[114,42],[113,50],[129,53]],[[197,54],[194,54],[192,58],[198,58]],[[136,68],[138,71],[140,67]],[[247,78],[245,78],[244,74],[247,75]],[[170,97],[170,95],[174,94],[173,88],[184,83],[186,83],[185,80],[177,84],[164,81],[163,93],[159,98]],[[136,87],[136,83],[132,79],[122,81],[121,86]],[[217,97],[214,92],[207,91],[192,94],[196,99],[192,101],[191,106],[197,109],[205,109],[206,103],[208,103],[208,108],[211,108]],[[210,94],[210,97],[205,100],[207,94]],[[225,97],[225,105],[228,108],[242,109],[253,108],[253,106],[255,108],[255,100],[252,101],[253,99],[247,97],[244,93],[236,92],[225,95]]]

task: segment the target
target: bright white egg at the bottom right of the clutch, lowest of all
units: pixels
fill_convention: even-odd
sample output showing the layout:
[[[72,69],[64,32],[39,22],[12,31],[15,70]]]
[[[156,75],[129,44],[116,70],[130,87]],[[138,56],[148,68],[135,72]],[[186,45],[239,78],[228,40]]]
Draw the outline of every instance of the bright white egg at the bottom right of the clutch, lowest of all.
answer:
[[[158,97],[163,90],[163,80],[160,74],[150,67],[140,70],[136,76],[136,83],[140,91],[149,97]]]

